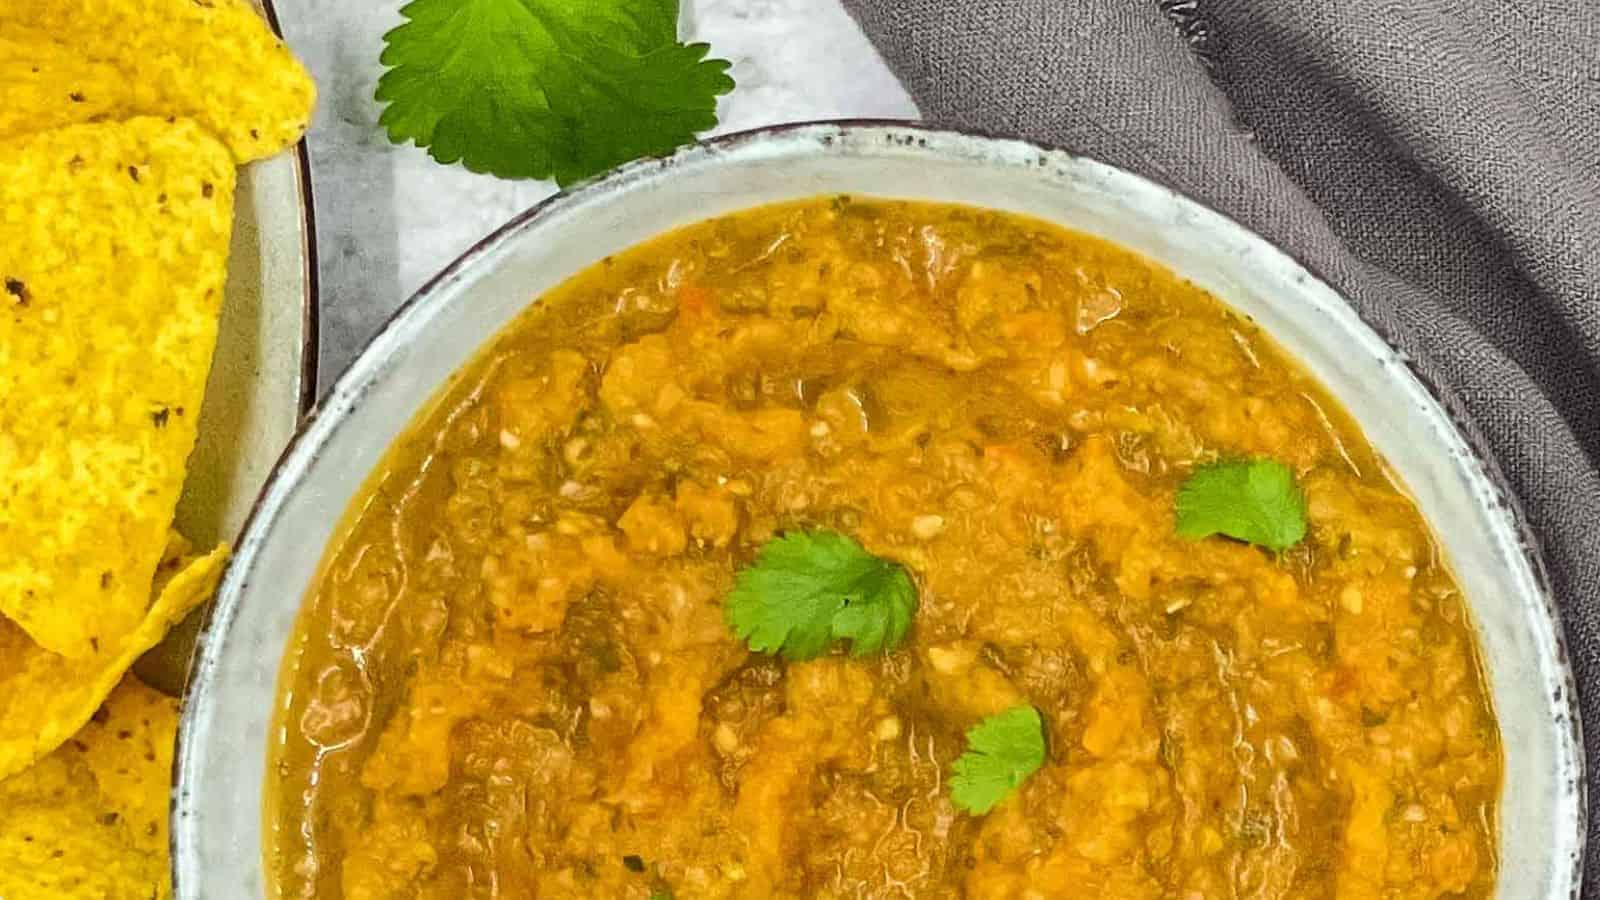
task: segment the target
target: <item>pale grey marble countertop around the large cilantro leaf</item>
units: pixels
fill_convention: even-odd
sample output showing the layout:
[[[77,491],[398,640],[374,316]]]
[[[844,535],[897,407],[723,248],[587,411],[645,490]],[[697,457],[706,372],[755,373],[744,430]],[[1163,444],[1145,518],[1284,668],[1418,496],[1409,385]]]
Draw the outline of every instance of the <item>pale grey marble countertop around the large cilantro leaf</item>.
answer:
[[[310,131],[322,389],[418,287],[554,184],[442,167],[389,143],[373,101],[400,0],[277,0],[322,90]],[[806,119],[914,119],[917,107],[835,0],[690,0],[688,40],[733,61],[717,133]]]

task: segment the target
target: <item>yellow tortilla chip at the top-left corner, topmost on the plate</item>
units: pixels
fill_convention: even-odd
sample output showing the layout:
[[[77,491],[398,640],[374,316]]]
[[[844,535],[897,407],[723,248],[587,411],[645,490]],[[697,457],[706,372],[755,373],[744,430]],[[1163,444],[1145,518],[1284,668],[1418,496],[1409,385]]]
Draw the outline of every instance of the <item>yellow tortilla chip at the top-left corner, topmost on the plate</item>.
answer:
[[[83,61],[109,64],[115,82],[88,78],[83,64],[61,62],[58,46]],[[222,138],[238,162],[269,157],[306,133],[315,86],[266,19],[245,0],[3,0],[0,38],[40,67],[62,67],[85,96],[126,96],[110,107],[130,115],[184,115]],[[29,59],[21,56],[21,59]],[[32,66],[27,61],[27,66]],[[38,131],[51,122],[90,122],[90,110],[50,91],[24,90],[6,102],[0,138]],[[24,80],[24,88],[27,82]],[[64,110],[66,107],[66,110]],[[82,115],[74,115],[82,114]]]

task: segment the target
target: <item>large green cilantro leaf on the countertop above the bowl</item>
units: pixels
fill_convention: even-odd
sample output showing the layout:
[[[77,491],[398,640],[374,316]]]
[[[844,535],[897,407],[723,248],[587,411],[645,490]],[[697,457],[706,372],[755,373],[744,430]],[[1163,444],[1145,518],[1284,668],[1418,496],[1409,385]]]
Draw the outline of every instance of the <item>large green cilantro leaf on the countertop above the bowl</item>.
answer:
[[[563,187],[717,125],[728,62],[677,40],[678,0],[413,0],[384,35],[389,139]]]

